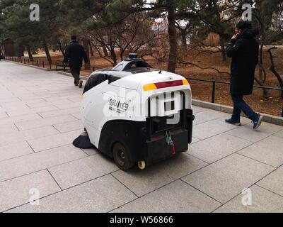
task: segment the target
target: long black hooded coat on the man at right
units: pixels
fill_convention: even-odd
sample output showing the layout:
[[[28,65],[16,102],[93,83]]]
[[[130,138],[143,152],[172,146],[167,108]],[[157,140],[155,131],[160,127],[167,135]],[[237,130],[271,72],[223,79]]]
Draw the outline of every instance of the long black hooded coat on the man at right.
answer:
[[[237,40],[231,40],[226,48],[231,63],[231,94],[253,94],[255,67],[258,65],[259,45],[255,40],[258,30],[243,31]]]

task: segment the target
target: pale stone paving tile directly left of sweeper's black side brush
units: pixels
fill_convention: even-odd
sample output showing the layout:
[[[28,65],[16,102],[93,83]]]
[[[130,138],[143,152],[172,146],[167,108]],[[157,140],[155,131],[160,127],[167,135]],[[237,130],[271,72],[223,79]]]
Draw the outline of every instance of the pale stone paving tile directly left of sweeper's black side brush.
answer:
[[[35,152],[39,152],[42,150],[48,150],[63,145],[71,144],[73,143],[74,139],[76,139],[80,134],[81,134],[81,130],[71,131],[69,133],[50,135],[50,136],[45,136],[44,138],[28,140],[28,143]]]

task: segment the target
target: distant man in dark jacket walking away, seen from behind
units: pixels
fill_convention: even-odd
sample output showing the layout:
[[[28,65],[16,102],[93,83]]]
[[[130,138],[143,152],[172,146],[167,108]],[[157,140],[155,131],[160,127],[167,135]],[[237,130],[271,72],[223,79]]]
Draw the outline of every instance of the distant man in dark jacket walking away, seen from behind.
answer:
[[[83,87],[83,81],[80,80],[81,67],[83,65],[83,60],[88,63],[88,57],[86,56],[86,51],[83,49],[82,45],[79,45],[76,35],[71,36],[71,43],[65,50],[64,63],[71,67],[71,74],[73,75],[75,81],[75,86]]]

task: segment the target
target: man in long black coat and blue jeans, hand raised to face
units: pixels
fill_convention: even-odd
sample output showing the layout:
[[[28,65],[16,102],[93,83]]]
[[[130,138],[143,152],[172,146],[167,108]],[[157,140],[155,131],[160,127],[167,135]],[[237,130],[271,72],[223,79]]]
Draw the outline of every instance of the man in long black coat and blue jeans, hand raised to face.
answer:
[[[233,100],[233,115],[226,123],[241,126],[240,115],[243,111],[253,121],[253,129],[260,127],[262,116],[255,113],[246,104],[243,96],[253,94],[255,67],[258,65],[259,45],[255,36],[259,34],[253,29],[249,21],[240,21],[236,26],[236,35],[233,35],[226,48],[231,63],[231,96]]]

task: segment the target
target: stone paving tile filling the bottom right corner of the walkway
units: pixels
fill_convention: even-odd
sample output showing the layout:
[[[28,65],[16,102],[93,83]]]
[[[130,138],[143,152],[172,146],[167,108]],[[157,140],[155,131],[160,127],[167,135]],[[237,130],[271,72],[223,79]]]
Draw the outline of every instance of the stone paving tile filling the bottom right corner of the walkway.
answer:
[[[242,199],[244,194],[236,196],[224,206],[217,209],[216,213],[282,213],[283,197],[254,185],[250,187],[252,204],[244,206]]]

